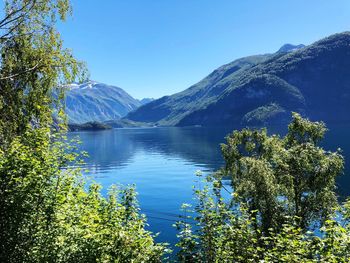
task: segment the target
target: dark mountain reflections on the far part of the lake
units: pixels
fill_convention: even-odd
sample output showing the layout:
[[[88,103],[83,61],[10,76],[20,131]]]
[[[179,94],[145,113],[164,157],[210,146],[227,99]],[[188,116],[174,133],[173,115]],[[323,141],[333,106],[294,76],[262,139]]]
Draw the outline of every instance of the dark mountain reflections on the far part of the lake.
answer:
[[[285,133],[286,129],[272,127],[271,133]],[[338,180],[338,192],[350,195],[349,125],[329,125],[329,132],[322,146],[327,150],[343,150],[346,160],[346,173]],[[181,158],[195,165],[216,170],[223,165],[219,144],[231,132],[229,128],[144,128],[114,129],[99,132],[71,133],[79,135],[83,150],[89,153],[87,166],[93,173],[125,167],[133,162],[139,151],[146,154],[158,153],[166,158]],[[159,164],[161,165],[161,164]]]

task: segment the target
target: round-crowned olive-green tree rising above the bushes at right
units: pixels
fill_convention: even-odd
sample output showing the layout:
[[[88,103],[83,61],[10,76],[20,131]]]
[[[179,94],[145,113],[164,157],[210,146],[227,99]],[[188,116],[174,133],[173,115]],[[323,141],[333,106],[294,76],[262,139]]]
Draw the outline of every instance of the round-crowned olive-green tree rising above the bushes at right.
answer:
[[[293,113],[284,138],[268,136],[266,129],[244,129],[233,132],[222,145],[222,174],[232,178],[240,202],[257,213],[266,234],[282,226],[286,216],[298,217],[306,230],[332,215],[337,204],[335,178],[344,160],[339,151],[319,146],[325,131],[323,123]]]

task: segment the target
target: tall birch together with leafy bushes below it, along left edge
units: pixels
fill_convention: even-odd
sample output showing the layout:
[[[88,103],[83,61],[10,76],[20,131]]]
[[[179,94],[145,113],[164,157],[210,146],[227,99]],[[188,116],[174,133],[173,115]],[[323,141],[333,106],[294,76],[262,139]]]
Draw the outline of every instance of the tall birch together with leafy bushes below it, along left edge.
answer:
[[[79,170],[69,168],[80,157],[65,139],[60,102],[65,84],[84,72],[55,29],[70,12],[69,1],[5,2],[0,261],[159,262],[165,248],[144,229],[134,189],[111,188],[102,197],[98,185],[87,185]]]

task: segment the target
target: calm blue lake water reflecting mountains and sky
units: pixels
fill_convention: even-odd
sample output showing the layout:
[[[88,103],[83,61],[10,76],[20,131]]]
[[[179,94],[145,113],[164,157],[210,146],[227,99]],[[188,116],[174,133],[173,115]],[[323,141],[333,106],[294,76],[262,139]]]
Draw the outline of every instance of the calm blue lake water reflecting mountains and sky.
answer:
[[[343,149],[350,159],[349,127],[330,128],[324,147]],[[210,173],[223,165],[219,144],[230,129],[139,128],[70,133],[79,136],[88,175],[104,189],[111,184],[136,184],[138,200],[149,229],[160,232],[158,241],[172,244],[182,203],[192,202],[197,170]],[[346,168],[348,169],[348,166]],[[349,178],[338,180],[340,195],[349,195]]]

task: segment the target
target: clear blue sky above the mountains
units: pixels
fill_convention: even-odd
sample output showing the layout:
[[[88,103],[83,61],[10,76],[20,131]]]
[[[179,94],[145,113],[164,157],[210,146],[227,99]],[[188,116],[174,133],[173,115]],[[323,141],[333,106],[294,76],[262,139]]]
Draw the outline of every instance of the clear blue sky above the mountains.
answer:
[[[349,0],[72,0],[64,44],[91,79],[170,95],[236,58],[350,29]]]

